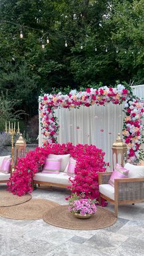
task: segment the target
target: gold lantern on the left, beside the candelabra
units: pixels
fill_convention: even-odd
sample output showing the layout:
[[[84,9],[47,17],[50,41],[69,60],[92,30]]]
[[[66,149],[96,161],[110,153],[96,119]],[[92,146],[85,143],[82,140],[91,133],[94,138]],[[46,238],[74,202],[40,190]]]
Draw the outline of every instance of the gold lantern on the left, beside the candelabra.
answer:
[[[26,155],[26,141],[24,141],[22,134],[15,142],[15,164],[18,163],[18,158],[22,158]]]

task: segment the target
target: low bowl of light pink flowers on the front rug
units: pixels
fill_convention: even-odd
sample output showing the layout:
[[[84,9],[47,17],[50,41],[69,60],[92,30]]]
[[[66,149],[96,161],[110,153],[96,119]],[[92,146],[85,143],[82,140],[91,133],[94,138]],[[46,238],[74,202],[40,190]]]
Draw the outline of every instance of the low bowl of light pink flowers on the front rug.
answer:
[[[68,200],[68,210],[76,218],[88,219],[96,213],[96,200],[85,199],[81,196],[77,196],[76,194],[73,194]]]

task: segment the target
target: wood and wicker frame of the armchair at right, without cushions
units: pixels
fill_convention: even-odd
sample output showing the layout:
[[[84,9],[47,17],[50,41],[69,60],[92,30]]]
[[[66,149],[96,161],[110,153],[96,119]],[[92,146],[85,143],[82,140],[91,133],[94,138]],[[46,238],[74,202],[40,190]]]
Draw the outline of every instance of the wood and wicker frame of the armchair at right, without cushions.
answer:
[[[99,172],[99,185],[108,184],[112,172]],[[110,185],[109,185],[110,186]],[[112,186],[111,186],[112,187]],[[114,181],[113,199],[101,193],[99,186],[100,197],[110,201],[115,205],[115,217],[118,215],[118,205],[144,202],[144,177],[142,178],[120,178]]]

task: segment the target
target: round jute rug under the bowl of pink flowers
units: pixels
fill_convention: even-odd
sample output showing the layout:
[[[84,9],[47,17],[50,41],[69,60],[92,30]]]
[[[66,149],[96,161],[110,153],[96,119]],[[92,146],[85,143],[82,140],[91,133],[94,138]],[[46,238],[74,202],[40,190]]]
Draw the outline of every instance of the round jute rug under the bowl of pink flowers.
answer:
[[[98,207],[90,219],[77,219],[68,211],[68,205],[60,205],[43,214],[43,221],[63,229],[95,230],[104,229],[113,225],[117,218],[109,210]]]

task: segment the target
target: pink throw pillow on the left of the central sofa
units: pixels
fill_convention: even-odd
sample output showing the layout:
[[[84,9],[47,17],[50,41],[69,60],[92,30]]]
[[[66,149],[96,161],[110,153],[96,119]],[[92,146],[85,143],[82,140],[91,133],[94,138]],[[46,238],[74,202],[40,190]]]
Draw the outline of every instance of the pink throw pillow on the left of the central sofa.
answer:
[[[46,158],[45,166],[41,173],[43,174],[59,174],[61,159]]]

